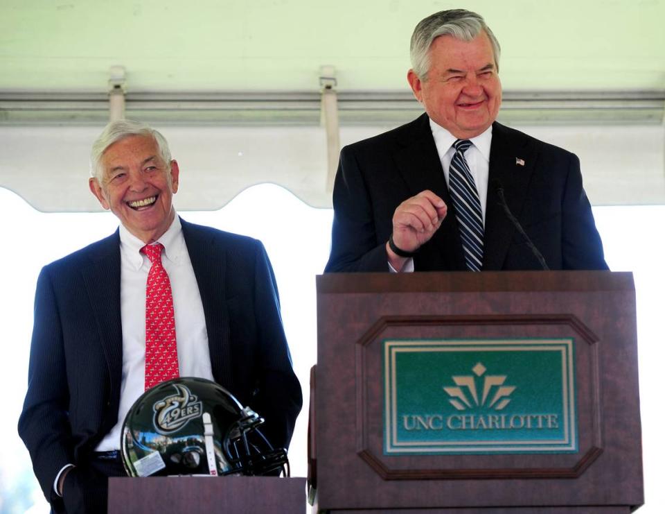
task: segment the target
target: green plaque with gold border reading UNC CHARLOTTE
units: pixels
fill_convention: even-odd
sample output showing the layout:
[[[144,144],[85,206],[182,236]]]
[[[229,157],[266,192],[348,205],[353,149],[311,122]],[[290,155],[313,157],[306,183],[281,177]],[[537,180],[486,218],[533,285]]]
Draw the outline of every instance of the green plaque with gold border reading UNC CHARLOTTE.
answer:
[[[573,339],[383,341],[384,454],[578,449]]]

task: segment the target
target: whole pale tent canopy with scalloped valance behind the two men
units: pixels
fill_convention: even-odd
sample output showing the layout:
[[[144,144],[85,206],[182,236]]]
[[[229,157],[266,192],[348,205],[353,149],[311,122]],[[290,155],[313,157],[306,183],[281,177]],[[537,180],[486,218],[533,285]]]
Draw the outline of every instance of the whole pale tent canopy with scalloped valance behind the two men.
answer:
[[[336,70],[342,144],[412,119],[411,31],[454,7],[0,0],[0,186],[39,209],[96,209],[87,153],[107,119],[109,68],[122,65],[127,117],[160,128],[188,170],[180,209],[220,207],[262,181],[328,206],[320,67]],[[463,7],[484,15],[502,44],[499,119],[550,126],[533,130],[585,155],[595,203],[665,203],[665,0]],[[639,168],[623,144],[633,140],[645,148]]]

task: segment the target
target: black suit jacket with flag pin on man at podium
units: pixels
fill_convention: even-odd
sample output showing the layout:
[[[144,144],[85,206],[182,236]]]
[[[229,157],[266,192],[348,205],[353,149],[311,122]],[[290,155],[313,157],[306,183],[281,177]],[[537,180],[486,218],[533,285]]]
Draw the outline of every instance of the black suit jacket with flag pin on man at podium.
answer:
[[[494,123],[483,270],[541,268],[499,204],[495,179],[549,268],[608,268],[576,155]],[[415,270],[465,270],[454,206],[429,118],[423,114],[342,149],[332,194],[335,219],[326,272],[388,271],[385,244],[393,213],[402,201],[424,189],[443,198],[448,213],[434,237],[418,250]]]

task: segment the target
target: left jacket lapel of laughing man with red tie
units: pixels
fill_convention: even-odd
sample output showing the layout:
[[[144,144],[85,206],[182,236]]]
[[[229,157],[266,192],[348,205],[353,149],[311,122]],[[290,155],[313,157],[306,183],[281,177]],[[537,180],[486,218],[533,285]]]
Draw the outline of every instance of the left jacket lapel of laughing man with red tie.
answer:
[[[99,241],[81,268],[89,305],[97,320],[109,370],[110,391],[120,395],[123,370],[123,327],[120,310],[120,236],[118,230]]]

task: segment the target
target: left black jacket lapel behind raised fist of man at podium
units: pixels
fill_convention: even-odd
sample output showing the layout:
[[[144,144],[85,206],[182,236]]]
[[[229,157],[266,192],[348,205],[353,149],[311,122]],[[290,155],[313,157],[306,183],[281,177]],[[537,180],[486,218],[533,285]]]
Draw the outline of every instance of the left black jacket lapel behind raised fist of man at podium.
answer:
[[[427,114],[423,114],[414,121],[409,137],[404,137],[402,141],[403,146],[396,150],[394,158],[398,171],[407,183],[407,187],[409,187],[409,196],[415,196],[420,191],[429,189],[439,196],[448,207],[441,228],[436,231],[432,240],[423,246],[420,255],[434,250],[440,254],[441,258],[436,260],[442,262],[444,268],[450,270],[465,269],[454,207],[452,207],[452,200],[445,183],[443,167],[441,166],[441,160],[438,158]],[[453,241],[453,244],[451,244],[451,241]],[[432,246],[432,243],[434,243],[434,246]],[[427,256],[422,255],[422,258],[425,259]],[[416,255],[416,268],[418,268],[419,259],[419,256]]]

